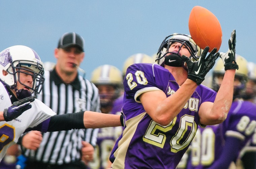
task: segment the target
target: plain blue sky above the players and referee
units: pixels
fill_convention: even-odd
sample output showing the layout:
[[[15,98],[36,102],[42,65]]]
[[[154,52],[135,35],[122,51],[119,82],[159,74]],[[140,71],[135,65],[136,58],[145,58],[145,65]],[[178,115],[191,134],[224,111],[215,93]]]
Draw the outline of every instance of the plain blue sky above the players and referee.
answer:
[[[172,33],[189,34],[191,9],[213,12],[223,32],[220,52],[236,29],[236,53],[256,63],[256,1],[233,0],[2,0],[0,51],[13,45],[34,49],[43,62],[56,62],[54,48],[62,34],[76,32],[85,39],[81,64],[91,78],[99,65],[123,68],[135,53],[155,54]]]

